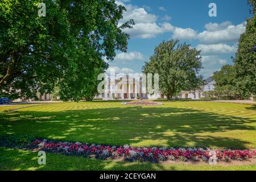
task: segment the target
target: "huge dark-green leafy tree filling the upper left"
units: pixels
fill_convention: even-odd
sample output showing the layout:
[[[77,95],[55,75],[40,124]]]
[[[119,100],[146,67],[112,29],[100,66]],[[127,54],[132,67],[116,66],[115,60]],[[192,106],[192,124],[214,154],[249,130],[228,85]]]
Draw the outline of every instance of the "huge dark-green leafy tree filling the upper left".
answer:
[[[40,2],[0,2],[0,92],[31,98],[59,85],[65,99],[80,100],[108,67],[102,57],[126,51],[122,30],[134,22],[118,23],[125,7],[114,0],[45,0],[46,16]]]

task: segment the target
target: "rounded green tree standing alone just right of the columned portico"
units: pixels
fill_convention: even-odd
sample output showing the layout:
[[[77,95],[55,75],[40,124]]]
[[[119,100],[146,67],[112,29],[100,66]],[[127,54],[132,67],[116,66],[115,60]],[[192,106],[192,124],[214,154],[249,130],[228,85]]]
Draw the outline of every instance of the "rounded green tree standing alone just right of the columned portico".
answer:
[[[181,90],[195,90],[203,83],[197,76],[202,68],[200,51],[178,40],[162,42],[142,68],[144,73],[159,73],[159,89],[168,100]]]

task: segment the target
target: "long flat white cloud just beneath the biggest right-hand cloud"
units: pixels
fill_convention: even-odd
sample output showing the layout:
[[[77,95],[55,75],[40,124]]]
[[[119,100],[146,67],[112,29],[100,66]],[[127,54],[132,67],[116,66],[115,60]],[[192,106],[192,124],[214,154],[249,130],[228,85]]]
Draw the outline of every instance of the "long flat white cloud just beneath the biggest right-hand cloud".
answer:
[[[199,44],[196,48],[198,50],[201,50],[201,55],[220,55],[227,53],[235,53],[237,51],[237,47],[229,46],[226,44]]]

